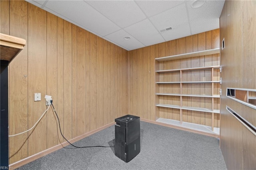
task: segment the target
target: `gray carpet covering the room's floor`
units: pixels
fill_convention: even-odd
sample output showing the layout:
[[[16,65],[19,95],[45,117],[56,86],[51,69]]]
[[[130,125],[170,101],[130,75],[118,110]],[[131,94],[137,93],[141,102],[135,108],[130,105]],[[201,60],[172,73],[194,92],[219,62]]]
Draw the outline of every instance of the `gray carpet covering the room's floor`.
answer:
[[[114,148],[67,146],[34,160],[19,170],[226,170],[219,140],[140,121],[140,153],[126,163]],[[76,146],[114,146],[114,125],[86,137]]]

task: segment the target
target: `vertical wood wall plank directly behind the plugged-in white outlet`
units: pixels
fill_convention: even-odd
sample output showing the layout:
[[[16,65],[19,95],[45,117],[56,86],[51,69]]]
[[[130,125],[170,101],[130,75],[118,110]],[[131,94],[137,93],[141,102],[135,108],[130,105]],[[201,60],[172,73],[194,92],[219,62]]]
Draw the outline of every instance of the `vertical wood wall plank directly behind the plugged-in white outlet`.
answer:
[[[47,90],[46,94],[57,99],[57,17],[47,12]],[[43,97],[43,96],[41,96]],[[47,111],[47,148],[58,144],[57,117],[52,109]]]

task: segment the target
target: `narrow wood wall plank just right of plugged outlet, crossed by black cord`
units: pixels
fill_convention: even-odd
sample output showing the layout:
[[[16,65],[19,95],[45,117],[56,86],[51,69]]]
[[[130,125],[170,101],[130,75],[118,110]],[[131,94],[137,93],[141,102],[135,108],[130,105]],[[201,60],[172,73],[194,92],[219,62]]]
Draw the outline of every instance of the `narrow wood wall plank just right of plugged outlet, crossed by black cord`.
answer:
[[[57,104],[57,114],[60,119],[60,128],[63,129],[63,111],[64,111],[64,91],[63,91],[63,77],[64,77],[64,64],[63,64],[63,19],[57,17],[57,102],[53,100],[53,103]],[[63,142],[63,137],[58,129],[58,143]]]

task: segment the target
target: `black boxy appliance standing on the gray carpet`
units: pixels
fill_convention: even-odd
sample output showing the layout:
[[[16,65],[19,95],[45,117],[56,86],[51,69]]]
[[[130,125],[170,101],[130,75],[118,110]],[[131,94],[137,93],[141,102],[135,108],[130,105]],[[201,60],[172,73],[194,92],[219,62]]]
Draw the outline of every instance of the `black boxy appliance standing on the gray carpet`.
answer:
[[[129,162],[140,153],[140,117],[125,115],[115,122],[115,154]]]

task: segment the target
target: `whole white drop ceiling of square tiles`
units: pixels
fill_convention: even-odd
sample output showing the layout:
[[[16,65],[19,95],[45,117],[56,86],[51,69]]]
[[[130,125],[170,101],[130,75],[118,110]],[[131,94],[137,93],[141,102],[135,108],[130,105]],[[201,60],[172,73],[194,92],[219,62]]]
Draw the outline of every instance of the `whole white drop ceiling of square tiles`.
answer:
[[[27,1],[128,51],[217,29],[224,6],[224,0],[199,8],[194,0]]]

